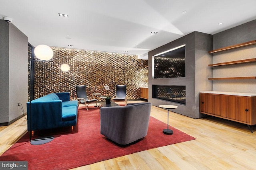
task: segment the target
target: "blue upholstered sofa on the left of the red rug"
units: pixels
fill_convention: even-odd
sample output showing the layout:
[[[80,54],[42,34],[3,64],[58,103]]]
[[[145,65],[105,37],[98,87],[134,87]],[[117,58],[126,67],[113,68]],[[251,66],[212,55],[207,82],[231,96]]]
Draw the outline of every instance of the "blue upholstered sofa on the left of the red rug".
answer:
[[[30,131],[30,102],[27,102]],[[75,126],[78,101],[70,101],[69,93],[52,93],[31,101],[31,131]]]

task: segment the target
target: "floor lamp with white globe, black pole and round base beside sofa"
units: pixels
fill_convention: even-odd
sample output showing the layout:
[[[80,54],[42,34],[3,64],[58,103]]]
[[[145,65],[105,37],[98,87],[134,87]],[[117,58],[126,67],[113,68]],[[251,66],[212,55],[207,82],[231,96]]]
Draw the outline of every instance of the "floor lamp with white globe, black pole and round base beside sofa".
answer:
[[[50,141],[52,141],[54,139],[53,136],[47,136],[47,137],[39,137],[39,138],[36,138],[36,139],[31,139],[31,136],[32,136],[32,131],[31,131],[31,114],[32,114],[32,111],[31,111],[31,100],[32,100],[32,82],[31,82],[31,72],[32,72],[32,62],[35,62],[35,61],[40,61],[40,62],[52,62],[52,61],[49,61],[50,59],[52,59],[53,57],[53,51],[52,49],[47,46],[47,45],[38,45],[36,46],[36,48],[34,49],[34,54],[35,56],[39,59],[39,60],[34,60],[34,59],[31,59],[30,60],[30,72],[29,72],[29,127],[30,127],[30,133],[29,133],[29,140],[30,140],[30,144],[31,145],[42,145],[42,144],[45,144],[45,143],[48,143]],[[33,56],[32,56],[33,57]],[[34,84],[33,84],[34,85]]]

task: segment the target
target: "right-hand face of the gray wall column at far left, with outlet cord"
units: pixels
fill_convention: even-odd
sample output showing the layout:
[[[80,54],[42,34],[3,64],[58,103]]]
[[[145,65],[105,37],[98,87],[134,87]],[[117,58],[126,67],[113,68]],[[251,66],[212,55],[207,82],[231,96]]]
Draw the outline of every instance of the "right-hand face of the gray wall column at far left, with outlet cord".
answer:
[[[26,111],[28,102],[28,37],[10,24],[9,47],[9,121]]]

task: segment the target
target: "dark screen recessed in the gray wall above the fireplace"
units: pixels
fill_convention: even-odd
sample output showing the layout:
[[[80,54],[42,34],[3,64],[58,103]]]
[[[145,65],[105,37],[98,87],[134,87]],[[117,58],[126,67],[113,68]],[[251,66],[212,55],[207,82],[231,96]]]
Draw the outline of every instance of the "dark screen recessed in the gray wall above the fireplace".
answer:
[[[153,78],[185,77],[185,46],[153,57]]]

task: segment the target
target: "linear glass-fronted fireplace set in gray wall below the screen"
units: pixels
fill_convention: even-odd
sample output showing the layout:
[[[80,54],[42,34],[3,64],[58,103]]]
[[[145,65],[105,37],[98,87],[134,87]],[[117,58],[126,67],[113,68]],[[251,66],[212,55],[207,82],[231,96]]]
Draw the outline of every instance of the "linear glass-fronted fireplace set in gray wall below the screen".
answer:
[[[186,104],[186,86],[152,85],[152,98]]]

